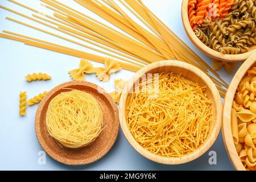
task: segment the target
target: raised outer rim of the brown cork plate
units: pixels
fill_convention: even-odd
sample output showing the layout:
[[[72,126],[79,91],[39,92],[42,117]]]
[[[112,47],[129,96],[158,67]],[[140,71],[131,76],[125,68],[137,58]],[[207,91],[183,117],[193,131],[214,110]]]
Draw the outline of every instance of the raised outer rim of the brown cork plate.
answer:
[[[54,151],[52,151],[51,148],[47,146],[47,142],[44,140],[41,134],[41,129],[40,129],[40,115],[42,114],[43,107],[48,101],[48,99],[58,92],[61,89],[67,88],[69,86],[86,86],[88,88],[92,88],[93,90],[97,90],[99,94],[101,94],[103,97],[106,98],[106,102],[109,102],[109,104],[112,106],[112,110],[114,115],[112,117],[114,118],[114,131],[112,133],[112,138],[110,140],[107,140],[108,143],[106,143],[106,147],[104,150],[101,152],[95,153],[92,157],[86,158],[86,159],[80,159],[80,160],[73,160],[73,159],[67,159],[63,158],[59,155],[57,155]],[[118,132],[119,132],[119,117],[118,117],[118,109],[117,105],[113,101],[113,98],[100,86],[93,84],[92,82],[88,81],[69,81],[69,82],[64,82],[63,84],[57,85],[55,88],[50,90],[46,97],[43,98],[43,100],[40,102],[40,105],[36,111],[35,115],[35,132],[36,132],[36,137],[38,138],[40,146],[42,146],[43,150],[47,152],[49,156],[51,156],[52,159],[57,160],[57,162],[67,164],[67,165],[72,165],[72,166],[79,166],[79,165],[84,165],[84,164],[90,164],[93,162],[96,162],[97,160],[101,159],[103,156],[108,154],[110,149],[114,146],[115,141],[117,140]],[[94,144],[94,143],[93,143]],[[92,144],[92,145],[93,145]]]

